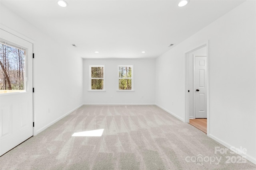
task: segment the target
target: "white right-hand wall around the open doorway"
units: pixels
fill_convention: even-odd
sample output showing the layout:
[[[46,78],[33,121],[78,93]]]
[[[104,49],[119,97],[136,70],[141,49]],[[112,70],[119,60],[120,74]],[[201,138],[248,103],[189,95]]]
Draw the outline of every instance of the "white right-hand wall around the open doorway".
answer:
[[[185,53],[209,40],[208,135],[226,147],[247,149],[246,158],[254,163],[255,10],[255,1],[242,3],[156,60],[156,104],[184,120]]]

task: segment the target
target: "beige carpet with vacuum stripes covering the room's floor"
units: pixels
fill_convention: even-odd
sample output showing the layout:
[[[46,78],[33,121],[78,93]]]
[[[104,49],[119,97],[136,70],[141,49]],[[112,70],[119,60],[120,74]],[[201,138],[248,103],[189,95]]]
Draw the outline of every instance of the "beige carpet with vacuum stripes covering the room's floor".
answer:
[[[72,137],[96,129],[104,129],[101,137]],[[1,156],[0,169],[256,169],[230,150],[215,154],[215,147],[225,148],[157,106],[82,106]]]

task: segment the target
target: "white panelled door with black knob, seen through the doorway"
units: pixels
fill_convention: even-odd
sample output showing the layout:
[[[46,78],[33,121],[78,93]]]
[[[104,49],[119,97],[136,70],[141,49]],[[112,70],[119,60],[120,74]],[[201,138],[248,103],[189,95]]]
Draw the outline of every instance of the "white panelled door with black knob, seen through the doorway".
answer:
[[[194,96],[196,118],[207,118],[206,56],[194,56]]]

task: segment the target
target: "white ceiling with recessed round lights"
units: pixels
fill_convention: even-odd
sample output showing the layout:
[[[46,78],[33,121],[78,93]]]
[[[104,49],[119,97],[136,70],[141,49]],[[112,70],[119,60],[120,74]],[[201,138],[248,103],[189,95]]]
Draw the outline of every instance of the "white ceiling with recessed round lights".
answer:
[[[0,2],[56,41],[70,45],[75,56],[155,58],[244,0],[190,0],[184,7],[178,7],[178,0],[66,0],[66,8],[56,0]]]

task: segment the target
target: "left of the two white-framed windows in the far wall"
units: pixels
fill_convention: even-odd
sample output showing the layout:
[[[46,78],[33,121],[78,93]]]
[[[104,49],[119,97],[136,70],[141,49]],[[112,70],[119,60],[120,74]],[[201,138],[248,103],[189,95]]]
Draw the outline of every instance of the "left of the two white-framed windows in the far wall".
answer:
[[[90,90],[104,90],[104,66],[90,66]]]

